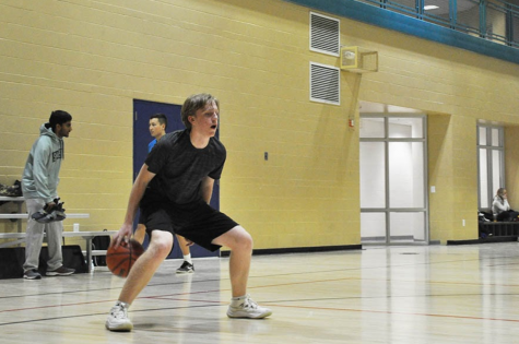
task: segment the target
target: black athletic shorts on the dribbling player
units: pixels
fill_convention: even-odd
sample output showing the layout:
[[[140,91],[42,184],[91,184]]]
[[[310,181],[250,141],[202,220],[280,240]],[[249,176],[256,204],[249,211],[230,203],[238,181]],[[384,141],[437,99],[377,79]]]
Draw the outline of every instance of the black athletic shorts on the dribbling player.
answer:
[[[211,241],[238,225],[203,201],[190,204],[141,202],[140,220],[150,237],[154,229],[161,229],[181,235],[210,251],[221,247]]]

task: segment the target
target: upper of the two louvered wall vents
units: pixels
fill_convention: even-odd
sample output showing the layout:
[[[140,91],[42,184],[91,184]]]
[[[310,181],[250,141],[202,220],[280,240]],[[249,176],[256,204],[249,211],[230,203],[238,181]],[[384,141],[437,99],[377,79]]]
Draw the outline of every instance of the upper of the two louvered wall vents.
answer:
[[[310,12],[310,50],[339,56],[340,49],[339,20]]]

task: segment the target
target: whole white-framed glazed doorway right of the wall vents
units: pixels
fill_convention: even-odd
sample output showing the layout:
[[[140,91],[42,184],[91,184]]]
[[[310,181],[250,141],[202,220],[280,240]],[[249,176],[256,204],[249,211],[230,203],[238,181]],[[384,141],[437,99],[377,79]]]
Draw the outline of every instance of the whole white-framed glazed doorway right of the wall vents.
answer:
[[[361,114],[363,245],[428,244],[426,117]]]

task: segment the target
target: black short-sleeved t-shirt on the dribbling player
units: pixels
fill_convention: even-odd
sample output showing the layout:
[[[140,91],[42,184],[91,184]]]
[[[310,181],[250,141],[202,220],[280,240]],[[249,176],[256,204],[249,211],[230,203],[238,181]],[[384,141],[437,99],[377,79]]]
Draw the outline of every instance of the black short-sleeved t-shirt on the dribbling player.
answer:
[[[176,204],[198,202],[202,200],[202,179],[208,176],[220,179],[225,157],[225,146],[216,138],[211,138],[204,149],[197,149],[187,130],[165,134],[145,161],[148,170],[156,174],[146,197]]]

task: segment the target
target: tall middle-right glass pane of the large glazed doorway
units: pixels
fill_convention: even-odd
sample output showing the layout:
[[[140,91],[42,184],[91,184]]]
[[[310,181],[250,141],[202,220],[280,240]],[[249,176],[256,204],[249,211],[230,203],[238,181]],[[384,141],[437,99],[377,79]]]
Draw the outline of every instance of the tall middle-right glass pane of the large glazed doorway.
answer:
[[[389,206],[424,206],[424,145],[389,143]]]

